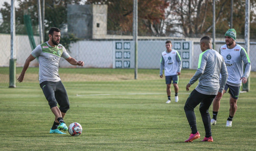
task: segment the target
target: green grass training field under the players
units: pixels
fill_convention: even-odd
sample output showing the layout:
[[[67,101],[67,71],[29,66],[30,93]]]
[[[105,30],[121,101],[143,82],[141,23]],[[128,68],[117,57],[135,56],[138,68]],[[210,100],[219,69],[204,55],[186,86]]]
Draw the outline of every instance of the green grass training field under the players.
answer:
[[[179,102],[174,102],[172,86],[172,103],[166,104],[166,84],[159,70],[138,70],[134,80],[132,69],[60,68],[70,102],[64,121],[82,125],[78,137],[49,134],[54,115],[39,86],[38,68],[29,68],[16,88],[8,88],[8,70],[0,68],[0,150],[256,150],[255,72],[251,91],[240,93],[232,127],[225,127],[226,93],[212,126],[214,142],[201,142],[205,133],[197,107],[201,138],[184,143],[191,130],[183,108],[197,83],[189,92],[186,84],[195,70],[181,71]],[[21,70],[17,68],[17,76]],[[209,113],[212,117],[212,106]]]

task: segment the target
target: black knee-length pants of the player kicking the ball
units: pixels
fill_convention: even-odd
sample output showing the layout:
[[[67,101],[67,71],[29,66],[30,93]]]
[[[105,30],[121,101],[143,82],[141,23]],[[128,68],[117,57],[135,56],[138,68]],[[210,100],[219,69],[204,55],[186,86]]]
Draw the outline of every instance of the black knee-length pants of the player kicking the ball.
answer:
[[[66,113],[69,110],[69,99],[67,91],[61,81],[43,81],[40,87],[44,92],[45,98],[50,105],[50,108],[59,104],[59,110]]]

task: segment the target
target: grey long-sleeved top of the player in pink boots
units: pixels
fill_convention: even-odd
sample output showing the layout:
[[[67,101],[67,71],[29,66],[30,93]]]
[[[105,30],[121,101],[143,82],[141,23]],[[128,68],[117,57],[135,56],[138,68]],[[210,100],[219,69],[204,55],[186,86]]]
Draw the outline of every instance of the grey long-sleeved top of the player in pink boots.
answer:
[[[221,82],[220,73],[222,75]],[[192,85],[198,78],[199,82],[195,88],[198,92],[206,95],[217,95],[218,92],[222,92],[228,78],[224,58],[213,49],[201,53],[197,71],[190,79],[189,84]]]

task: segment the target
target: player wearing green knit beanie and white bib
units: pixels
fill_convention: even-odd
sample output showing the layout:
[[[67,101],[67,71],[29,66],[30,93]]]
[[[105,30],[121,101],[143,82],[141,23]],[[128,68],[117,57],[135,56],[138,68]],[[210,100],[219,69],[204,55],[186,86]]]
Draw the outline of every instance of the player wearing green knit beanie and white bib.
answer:
[[[229,88],[229,117],[227,119],[226,127],[232,126],[232,119],[237,110],[237,99],[242,83],[247,82],[247,78],[251,71],[250,59],[243,47],[236,44],[236,31],[229,29],[225,34],[226,45],[221,46],[220,54],[223,56],[228,71],[228,79],[222,95]],[[245,72],[243,73],[243,65],[245,65]],[[213,118],[211,125],[216,124],[217,114],[220,109],[220,99],[214,99],[212,106]]]

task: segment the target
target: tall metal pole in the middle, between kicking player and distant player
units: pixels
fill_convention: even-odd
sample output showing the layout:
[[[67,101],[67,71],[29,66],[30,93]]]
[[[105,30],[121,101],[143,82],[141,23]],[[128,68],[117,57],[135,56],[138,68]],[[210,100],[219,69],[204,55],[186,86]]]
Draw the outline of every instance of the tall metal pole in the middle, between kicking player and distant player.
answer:
[[[138,0],[133,0],[134,79],[138,75]]]

